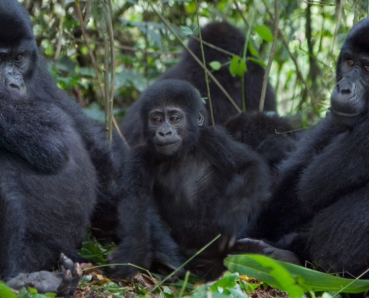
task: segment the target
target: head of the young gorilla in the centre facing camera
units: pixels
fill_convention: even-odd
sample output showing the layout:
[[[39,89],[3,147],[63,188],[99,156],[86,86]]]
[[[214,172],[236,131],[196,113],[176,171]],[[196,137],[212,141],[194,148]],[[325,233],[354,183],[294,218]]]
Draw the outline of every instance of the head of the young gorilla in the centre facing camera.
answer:
[[[140,116],[147,120],[144,123],[145,140],[162,157],[183,156],[191,150],[198,141],[205,115],[200,93],[185,81],[158,82],[142,96]]]

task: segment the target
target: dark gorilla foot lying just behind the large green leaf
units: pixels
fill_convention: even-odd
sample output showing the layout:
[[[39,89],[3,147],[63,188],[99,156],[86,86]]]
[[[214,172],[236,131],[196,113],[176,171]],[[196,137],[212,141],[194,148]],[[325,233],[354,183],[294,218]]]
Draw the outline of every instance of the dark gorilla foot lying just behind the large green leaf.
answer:
[[[232,254],[237,253],[254,253],[271,257],[278,261],[284,261],[296,265],[301,265],[296,255],[287,249],[274,247],[263,240],[244,238],[236,241],[231,249]]]

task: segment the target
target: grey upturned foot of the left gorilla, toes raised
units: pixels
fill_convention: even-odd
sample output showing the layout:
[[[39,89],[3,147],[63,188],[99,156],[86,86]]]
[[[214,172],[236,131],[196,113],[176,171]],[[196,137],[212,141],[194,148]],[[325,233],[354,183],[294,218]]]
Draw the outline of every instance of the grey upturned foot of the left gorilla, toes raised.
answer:
[[[32,287],[39,293],[53,292],[58,296],[70,296],[74,293],[82,276],[79,263],[67,258],[63,253],[59,258],[59,270],[54,272],[37,271],[19,273],[16,277],[7,280],[10,288],[19,290],[22,287]]]

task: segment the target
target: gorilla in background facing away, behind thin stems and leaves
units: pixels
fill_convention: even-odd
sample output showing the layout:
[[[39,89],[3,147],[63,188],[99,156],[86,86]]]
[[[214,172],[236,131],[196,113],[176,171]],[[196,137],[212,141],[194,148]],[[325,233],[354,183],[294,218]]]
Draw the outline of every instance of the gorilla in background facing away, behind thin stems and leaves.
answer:
[[[242,56],[245,45],[245,32],[226,22],[214,22],[201,29],[202,39],[217,48],[223,49],[231,54],[226,54],[213,47],[204,44],[204,55],[208,69],[211,69],[209,63],[219,61],[222,66],[219,70],[214,70],[213,74],[219,81],[220,85],[229,93],[236,104],[242,107],[242,88],[241,78],[233,77],[229,73],[229,62],[232,54]],[[188,47],[202,61],[200,42],[191,38],[188,42]],[[263,85],[264,69],[253,61],[246,62],[247,72],[245,74],[245,97],[246,110],[258,110],[260,102],[261,88]],[[192,58],[192,56],[184,50],[182,60],[175,66],[165,71],[158,81],[165,79],[181,79],[192,83],[196,89],[200,91],[202,97],[208,97],[206,88],[204,70]],[[237,110],[230,103],[224,93],[216,86],[209,78],[209,88],[212,98],[212,106],[214,119],[216,124],[223,124],[229,117],[237,115]],[[127,111],[123,122],[120,125],[123,135],[130,145],[142,143],[142,128],[139,118],[139,107],[141,103],[135,102]],[[209,111],[209,103],[207,103]],[[268,84],[267,93],[265,96],[266,111],[276,111],[276,99],[272,87]]]

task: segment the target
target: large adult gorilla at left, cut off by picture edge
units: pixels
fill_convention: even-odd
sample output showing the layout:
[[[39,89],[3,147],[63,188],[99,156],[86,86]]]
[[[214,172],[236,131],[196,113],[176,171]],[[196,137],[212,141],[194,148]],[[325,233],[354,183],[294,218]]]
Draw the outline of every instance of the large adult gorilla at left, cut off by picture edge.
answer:
[[[114,186],[110,147],[44,69],[17,0],[0,1],[0,28],[0,278],[65,296],[81,274],[65,256],[81,260],[96,198]],[[20,274],[60,255],[61,272]]]

